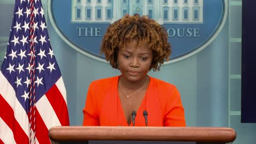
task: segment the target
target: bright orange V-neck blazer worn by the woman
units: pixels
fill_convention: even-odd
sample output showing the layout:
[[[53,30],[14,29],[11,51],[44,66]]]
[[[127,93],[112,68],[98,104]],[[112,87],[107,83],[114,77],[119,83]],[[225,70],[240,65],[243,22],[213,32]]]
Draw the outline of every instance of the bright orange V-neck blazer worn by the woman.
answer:
[[[159,79],[149,78],[146,95],[135,117],[135,126],[146,126],[143,110],[148,112],[148,126],[186,126],[177,88]],[[110,77],[90,84],[83,109],[83,125],[129,126],[119,100],[118,79],[119,76]]]

